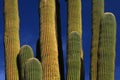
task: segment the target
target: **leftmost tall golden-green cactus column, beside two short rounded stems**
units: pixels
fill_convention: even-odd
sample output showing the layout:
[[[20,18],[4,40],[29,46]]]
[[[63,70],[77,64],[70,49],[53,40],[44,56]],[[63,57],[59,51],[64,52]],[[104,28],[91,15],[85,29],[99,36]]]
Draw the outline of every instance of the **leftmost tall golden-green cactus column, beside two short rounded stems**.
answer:
[[[6,80],[18,80],[17,55],[20,50],[18,0],[4,0],[4,16]]]

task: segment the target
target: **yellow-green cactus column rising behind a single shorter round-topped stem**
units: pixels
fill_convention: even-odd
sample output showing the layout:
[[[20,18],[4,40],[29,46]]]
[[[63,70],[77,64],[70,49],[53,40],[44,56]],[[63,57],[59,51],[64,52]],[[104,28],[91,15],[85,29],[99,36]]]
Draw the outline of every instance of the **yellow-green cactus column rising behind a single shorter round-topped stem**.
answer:
[[[68,4],[68,35],[72,31],[79,32],[81,37],[81,45],[82,45],[82,6],[81,0],[67,0]],[[81,46],[81,61],[83,60],[83,51]],[[84,69],[84,64],[82,64],[82,69]],[[84,71],[84,70],[83,70]],[[81,79],[84,80],[84,73],[81,71]]]

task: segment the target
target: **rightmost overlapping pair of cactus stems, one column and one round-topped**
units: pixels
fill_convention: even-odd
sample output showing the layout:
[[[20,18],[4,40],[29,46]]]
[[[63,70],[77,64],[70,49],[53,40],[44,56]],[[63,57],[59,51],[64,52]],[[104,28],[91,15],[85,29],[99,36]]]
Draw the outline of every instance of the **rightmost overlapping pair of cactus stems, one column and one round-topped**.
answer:
[[[90,80],[114,80],[116,21],[104,13],[104,0],[92,0]]]

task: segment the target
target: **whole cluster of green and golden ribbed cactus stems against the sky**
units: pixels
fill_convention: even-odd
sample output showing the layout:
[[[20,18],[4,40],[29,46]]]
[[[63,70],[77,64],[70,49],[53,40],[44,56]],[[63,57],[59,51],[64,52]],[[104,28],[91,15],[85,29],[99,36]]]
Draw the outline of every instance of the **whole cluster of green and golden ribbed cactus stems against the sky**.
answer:
[[[66,80],[84,80],[81,0],[66,1]],[[4,1],[6,80],[65,80],[59,8],[58,0],[40,0],[39,57],[34,58],[29,45],[20,48],[18,0]],[[90,80],[114,80],[115,44],[115,16],[104,13],[104,0],[92,0]]]

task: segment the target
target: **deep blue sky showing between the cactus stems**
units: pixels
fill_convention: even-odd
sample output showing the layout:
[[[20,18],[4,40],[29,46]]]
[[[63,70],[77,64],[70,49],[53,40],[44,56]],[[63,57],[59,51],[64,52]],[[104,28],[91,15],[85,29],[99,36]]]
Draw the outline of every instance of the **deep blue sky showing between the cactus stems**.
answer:
[[[67,30],[67,6],[65,0],[60,0],[62,42],[64,56],[66,56],[66,30]],[[20,44],[30,45],[36,54],[36,42],[39,38],[39,0],[19,0],[20,16]],[[120,0],[105,0],[105,12],[112,12],[117,21],[117,45],[115,80],[120,79]],[[90,46],[91,46],[91,0],[82,0],[82,28],[83,51],[85,61],[85,80],[89,80],[90,71]],[[3,46],[3,0],[0,0],[0,80],[5,80],[4,75],[4,46]],[[64,57],[65,59],[65,57]]]

